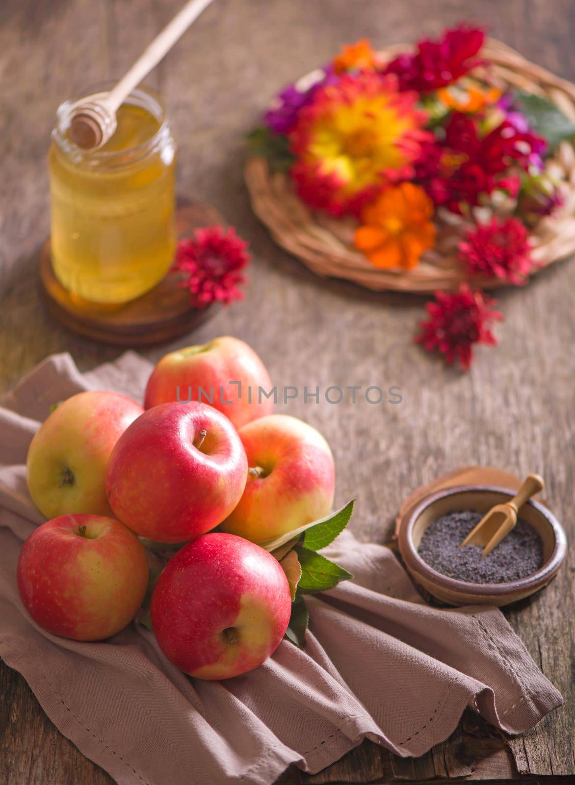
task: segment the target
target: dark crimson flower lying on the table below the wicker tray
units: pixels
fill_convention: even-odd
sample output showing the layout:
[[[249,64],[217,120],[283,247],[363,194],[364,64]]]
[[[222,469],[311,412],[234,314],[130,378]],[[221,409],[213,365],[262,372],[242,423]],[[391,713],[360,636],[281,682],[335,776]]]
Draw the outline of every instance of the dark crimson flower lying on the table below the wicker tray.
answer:
[[[474,344],[497,343],[489,323],[503,316],[494,305],[495,300],[482,291],[471,290],[467,283],[462,283],[459,291],[453,293],[436,292],[435,301],[426,305],[429,319],[419,324],[421,332],[416,336],[416,343],[423,345],[427,352],[438,349],[448,365],[459,360],[463,371],[467,371],[473,360]]]

